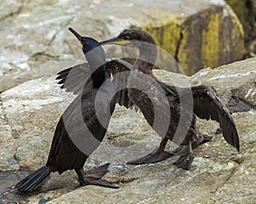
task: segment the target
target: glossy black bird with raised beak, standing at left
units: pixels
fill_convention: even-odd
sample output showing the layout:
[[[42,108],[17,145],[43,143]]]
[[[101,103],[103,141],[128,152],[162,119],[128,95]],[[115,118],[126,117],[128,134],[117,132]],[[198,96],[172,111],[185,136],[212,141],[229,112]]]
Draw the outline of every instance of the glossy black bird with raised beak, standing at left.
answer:
[[[55,128],[46,165],[15,184],[13,189],[20,192],[34,190],[52,172],[61,174],[69,169],[75,170],[82,185],[118,188],[107,180],[101,179],[107,173],[109,164],[87,171],[85,175],[83,166],[90,153],[102,142],[115,104],[119,103],[129,108],[132,103],[128,97],[125,98],[125,90],[115,93],[118,85],[114,85],[110,80],[110,74],[106,71],[106,55],[99,42],[90,37],[80,36],[72,28],[69,30],[82,44],[85,58],[88,60],[88,63],[82,64],[82,67],[90,77],[87,78],[87,82],[86,78],[79,78],[81,80],[80,87],[78,86],[81,88],[79,96],[67,107]],[[115,63],[119,63],[119,60],[109,65]],[[80,68],[81,65],[75,66],[77,67]],[[119,67],[122,67],[121,63]],[[76,92],[79,90],[76,87],[76,81],[70,81],[73,73],[76,72],[75,68],[69,68],[59,74],[61,78],[65,78],[64,81],[67,80],[67,87],[71,86],[71,91]],[[123,68],[126,71],[129,70],[129,67],[123,66]],[[101,122],[96,115],[97,112],[102,116]]]

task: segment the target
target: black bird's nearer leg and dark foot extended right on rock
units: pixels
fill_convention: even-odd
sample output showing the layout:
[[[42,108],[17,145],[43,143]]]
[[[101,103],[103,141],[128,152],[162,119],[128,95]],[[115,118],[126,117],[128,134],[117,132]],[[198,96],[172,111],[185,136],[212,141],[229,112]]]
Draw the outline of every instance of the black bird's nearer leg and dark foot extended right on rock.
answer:
[[[96,180],[90,180],[84,176],[84,170],[83,168],[77,168],[75,169],[76,173],[79,176],[79,182],[81,185],[97,185],[112,189],[118,189],[119,187],[116,185],[113,185],[111,182],[105,179],[96,179]]]

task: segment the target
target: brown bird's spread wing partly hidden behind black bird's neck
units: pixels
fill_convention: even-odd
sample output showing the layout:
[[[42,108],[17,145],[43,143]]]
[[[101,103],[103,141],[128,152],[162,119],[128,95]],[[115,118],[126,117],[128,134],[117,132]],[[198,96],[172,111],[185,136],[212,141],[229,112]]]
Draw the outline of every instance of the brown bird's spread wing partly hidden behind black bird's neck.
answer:
[[[113,77],[113,84],[118,90],[116,103],[126,108],[134,107],[127,90],[127,78],[131,69],[132,65],[123,59],[108,59],[106,63],[106,71]],[[60,71],[57,75],[56,80],[61,80],[58,84],[62,84],[61,88],[66,88],[67,92],[79,95],[83,89],[92,88],[90,65],[87,62]]]

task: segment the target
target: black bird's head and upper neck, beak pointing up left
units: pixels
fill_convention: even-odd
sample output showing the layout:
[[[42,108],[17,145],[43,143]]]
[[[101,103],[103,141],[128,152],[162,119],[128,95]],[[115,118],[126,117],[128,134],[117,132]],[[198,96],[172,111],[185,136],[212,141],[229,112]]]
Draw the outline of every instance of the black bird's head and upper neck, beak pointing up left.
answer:
[[[94,63],[94,61],[101,59],[102,61],[106,60],[106,54],[99,42],[97,42],[95,39],[91,37],[81,36],[79,32],[73,30],[72,27],[69,27],[68,30],[71,31],[73,35],[78,38],[79,42],[82,45],[82,50],[85,55],[85,58],[89,63]]]

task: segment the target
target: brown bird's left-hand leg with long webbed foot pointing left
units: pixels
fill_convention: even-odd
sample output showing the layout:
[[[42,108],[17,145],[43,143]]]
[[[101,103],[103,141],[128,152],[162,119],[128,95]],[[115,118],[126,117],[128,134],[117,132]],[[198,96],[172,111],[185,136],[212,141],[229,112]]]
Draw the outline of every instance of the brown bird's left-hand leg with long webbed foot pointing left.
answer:
[[[173,156],[171,152],[164,151],[168,139],[164,137],[160,142],[159,148],[155,149],[154,151],[150,152],[147,156],[143,158],[128,161],[127,164],[146,164],[146,163],[155,163],[159,161],[163,161],[168,159],[169,157]]]

